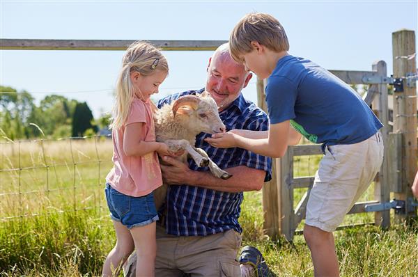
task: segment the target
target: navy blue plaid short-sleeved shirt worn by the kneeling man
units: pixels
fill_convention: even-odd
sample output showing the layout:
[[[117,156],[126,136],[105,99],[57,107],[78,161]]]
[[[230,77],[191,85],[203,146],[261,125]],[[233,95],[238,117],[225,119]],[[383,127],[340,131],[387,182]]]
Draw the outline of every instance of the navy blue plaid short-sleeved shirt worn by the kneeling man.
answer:
[[[203,93],[201,90],[189,90],[169,95],[158,102],[158,107],[168,104],[178,97]],[[242,94],[229,107],[219,113],[226,130],[249,129],[264,131],[268,129],[268,116],[254,103],[244,99]],[[256,155],[241,148],[213,148],[203,141],[210,134],[196,136],[196,147],[208,153],[210,159],[220,168],[248,166],[265,171],[265,182],[271,179],[272,161],[268,157]],[[194,171],[208,171],[208,167],[197,166],[189,159],[189,168]],[[251,182],[251,180],[248,180]],[[215,191],[202,187],[172,185],[167,193],[167,233],[176,236],[206,236],[226,230],[242,232],[240,217],[243,193]]]

